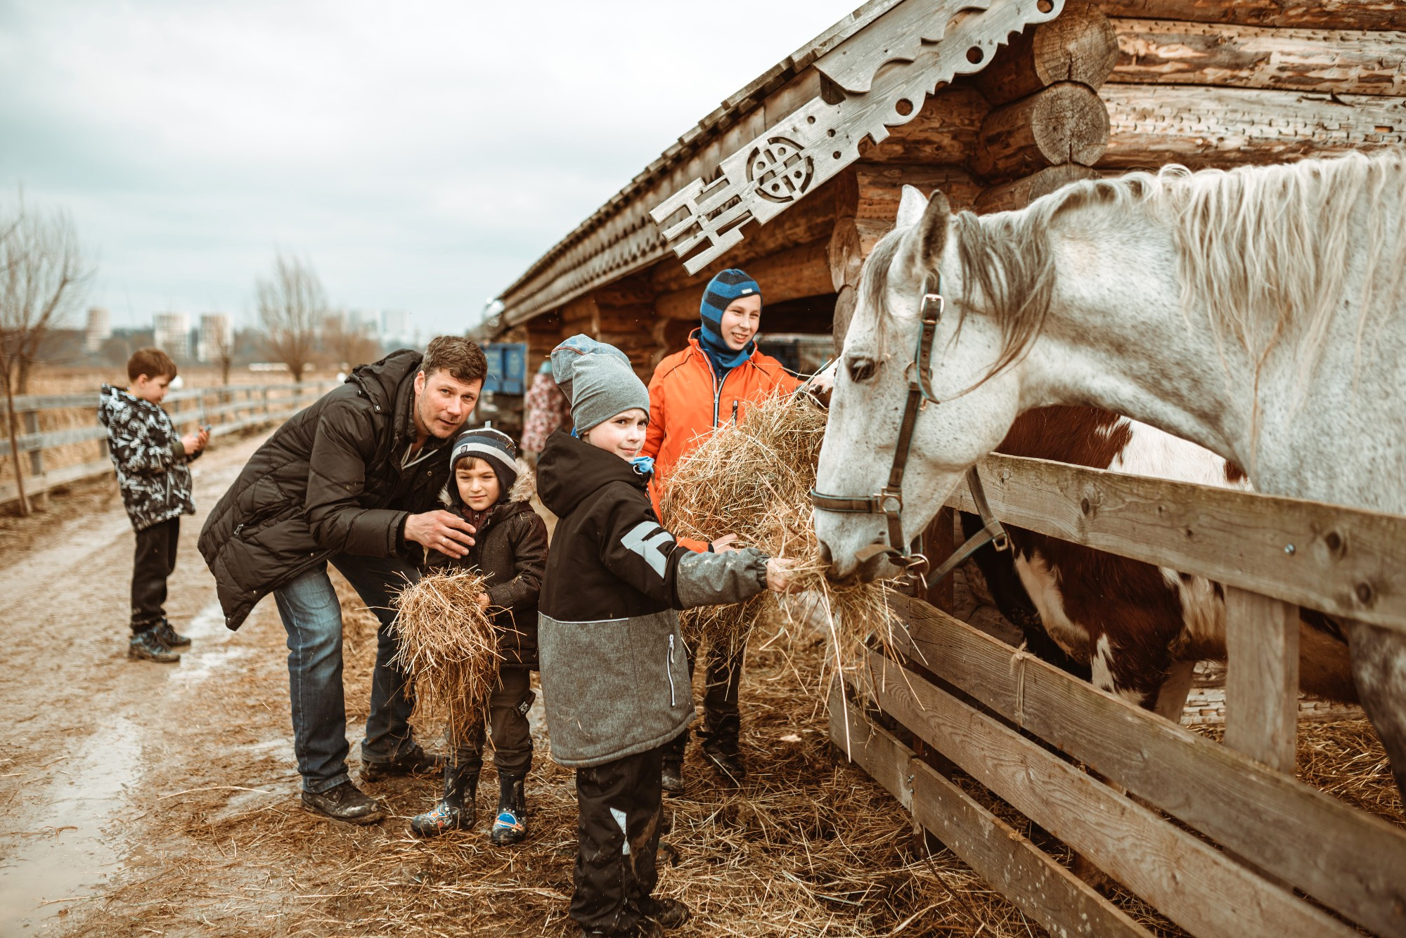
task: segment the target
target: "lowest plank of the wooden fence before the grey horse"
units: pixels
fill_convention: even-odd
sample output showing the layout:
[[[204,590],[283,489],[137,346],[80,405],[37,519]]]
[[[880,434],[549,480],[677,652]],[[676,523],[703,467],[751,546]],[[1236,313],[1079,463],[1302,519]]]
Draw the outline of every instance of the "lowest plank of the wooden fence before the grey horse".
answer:
[[[848,705],[837,682],[830,740],[914,819],[1054,938],[1147,938],[1149,932],[1014,827],[924,765],[891,733]]]

